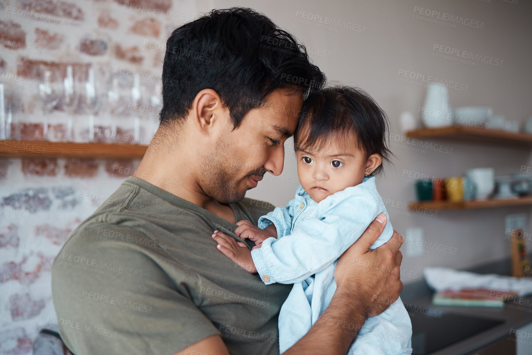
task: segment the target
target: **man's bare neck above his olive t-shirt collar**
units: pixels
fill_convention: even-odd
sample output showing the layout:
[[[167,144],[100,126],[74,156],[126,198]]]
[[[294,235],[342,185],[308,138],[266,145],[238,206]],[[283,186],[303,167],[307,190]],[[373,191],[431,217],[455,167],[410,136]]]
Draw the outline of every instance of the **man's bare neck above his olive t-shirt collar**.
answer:
[[[133,176],[235,223],[232,209],[207,196],[198,184],[197,156],[190,157],[190,150],[182,148],[186,142],[171,145],[163,136],[158,130]]]

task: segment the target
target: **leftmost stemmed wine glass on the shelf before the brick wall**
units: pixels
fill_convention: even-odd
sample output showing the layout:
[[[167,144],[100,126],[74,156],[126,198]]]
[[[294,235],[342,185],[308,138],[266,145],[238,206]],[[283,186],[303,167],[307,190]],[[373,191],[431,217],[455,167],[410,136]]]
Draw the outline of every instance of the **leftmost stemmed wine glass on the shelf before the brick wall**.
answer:
[[[61,98],[61,78],[57,70],[39,65],[39,96],[43,108],[43,139],[48,139],[48,114]]]

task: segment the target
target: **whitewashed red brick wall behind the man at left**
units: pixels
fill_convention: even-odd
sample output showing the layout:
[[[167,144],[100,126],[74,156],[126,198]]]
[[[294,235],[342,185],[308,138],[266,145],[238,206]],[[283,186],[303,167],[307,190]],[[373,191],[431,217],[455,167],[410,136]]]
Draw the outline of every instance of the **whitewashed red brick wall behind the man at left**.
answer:
[[[21,93],[23,110],[17,118],[22,139],[39,139],[38,64],[64,72],[66,65],[84,68],[91,63],[103,80],[127,73],[153,85],[160,76],[165,39],[194,17],[195,7],[182,0],[1,0],[0,14],[0,82]],[[145,119],[145,129],[153,127],[155,115],[131,112],[136,113]],[[109,114],[102,111],[99,121]],[[54,123],[66,115],[58,103],[49,119]],[[77,110],[73,117],[83,133],[87,116]],[[97,139],[109,138],[99,132]],[[131,142],[131,136],[128,128],[117,130],[118,140]],[[76,139],[87,137],[78,134]],[[41,328],[56,329],[51,263],[71,231],[138,163],[0,159],[0,355],[30,354]]]

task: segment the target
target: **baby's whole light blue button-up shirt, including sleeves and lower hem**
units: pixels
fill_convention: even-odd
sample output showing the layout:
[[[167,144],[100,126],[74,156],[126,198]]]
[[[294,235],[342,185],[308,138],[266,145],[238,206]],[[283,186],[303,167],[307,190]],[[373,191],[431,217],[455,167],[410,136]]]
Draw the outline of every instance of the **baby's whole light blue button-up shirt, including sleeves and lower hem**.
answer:
[[[337,259],[379,213],[386,214],[387,222],[371,249],[386,243],[393,228],[375,177],[367,177],[320,203],[299,186],[285,208],[277,207],[259,219],[262,229],[275,224],[277,239],[268,238],[251,251],[257,272],[267,285],[294,284],[279,313],[281,353],[300,340],[328,306],[336,290]],[[339,332],[357,330],[338,325]],[[366,320],[349,354],[408,354],[411,337],[408,312],[398,299],[379,316]]]

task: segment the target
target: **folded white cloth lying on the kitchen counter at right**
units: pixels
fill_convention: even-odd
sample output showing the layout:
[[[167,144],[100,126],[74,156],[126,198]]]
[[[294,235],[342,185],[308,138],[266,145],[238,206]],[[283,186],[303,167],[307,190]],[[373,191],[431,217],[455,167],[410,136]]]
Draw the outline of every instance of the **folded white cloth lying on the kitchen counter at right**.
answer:
[[[480,275],[451,268],[425,268],[423,276],[429,287],[436,291],[488,288],[489,290],[518,292],[519,296],[532,293],[532,279],[530,278],[497,274]]]

